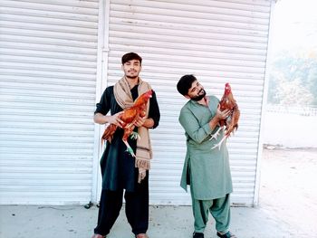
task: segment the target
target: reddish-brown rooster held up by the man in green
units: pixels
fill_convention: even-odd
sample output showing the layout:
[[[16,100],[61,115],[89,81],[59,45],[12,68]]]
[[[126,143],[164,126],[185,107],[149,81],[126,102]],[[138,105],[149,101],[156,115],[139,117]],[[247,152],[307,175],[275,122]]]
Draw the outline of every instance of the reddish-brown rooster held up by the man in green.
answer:
[[[234,99],[234,95],[232,94],[231,87],[230,87],[228,82],[226,82],[226,84],[225,84],[225,93],[219,102],[219,109],[221,111],[223,111],[225,109],[230,110],[230,115],[226,119],[222,119],[219,121],[220,128],[216,131],[215,135],[212,137],[212,138],[216,138],[219,131],[221,129],[225,129],[225,127],[226,127],[226,132],[225,132],[224,138],[222,138],[220,140],[220,142],[218,144],[216,144],[215,147],[213,147],[213,148],[218,147],[220,149],[221,144],[224,142],[224,140],[226,138],[228,138],[230,136],[230,134],[238,128],[238,121],[240,118],[240,110],[236,104],[236,101]],[[210,138],[210,139],[212,139],[212,138]]]

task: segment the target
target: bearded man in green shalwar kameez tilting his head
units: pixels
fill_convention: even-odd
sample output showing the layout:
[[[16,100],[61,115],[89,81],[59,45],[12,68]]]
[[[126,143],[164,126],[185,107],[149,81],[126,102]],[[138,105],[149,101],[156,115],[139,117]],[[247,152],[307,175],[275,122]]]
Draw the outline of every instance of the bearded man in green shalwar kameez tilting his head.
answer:
[[[187,191],[190,185],[195,231],[193,238],[203,238],[208,212],[216,220],[217,236],[236,238],[229,232],[230,200],[233,192],[226,142],[220,149],[213,148],[221,138],[212,138],[219,129],[218,121],[226,119],[230,111],[218,109],[219,100],[206,96],[206,91],[193,75],[185,75],[178,81],[178,91],[187,99],[180,110],[179,122],[185,129],[187,154],[180,186]]]

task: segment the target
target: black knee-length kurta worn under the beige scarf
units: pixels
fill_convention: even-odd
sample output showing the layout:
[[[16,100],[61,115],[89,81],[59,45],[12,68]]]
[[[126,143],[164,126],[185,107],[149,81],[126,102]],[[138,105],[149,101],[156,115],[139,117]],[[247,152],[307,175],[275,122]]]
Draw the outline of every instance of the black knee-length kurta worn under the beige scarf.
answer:
[[[138,98],[138,85],[131,89],[133,100]],[[101,101],[96,105],[95,113],[106,115],[109,111],[114,115],[121,111],[114,94],[113,86],[104,90]],[[156,94],[153,91],[152,98],[149,99],[149,118],[154,120],[153,129],[159,125],[159,104]],[[138,131],[137,128],[134,129]],[[139,171],[135,167],[135,158],[130,156],[127,152],[127,147],[122,141],[123,129],[117,129],[114,133],[111,143],[107,141],[106,149],[101,157],[101,175],[102,175],[102,189],[111,191],[126,189],[128,192],[133,192],[138,183]],[[136,153],[137,141],[129,138],[130,147]],[[149,179],[147,172],[146,180]]]

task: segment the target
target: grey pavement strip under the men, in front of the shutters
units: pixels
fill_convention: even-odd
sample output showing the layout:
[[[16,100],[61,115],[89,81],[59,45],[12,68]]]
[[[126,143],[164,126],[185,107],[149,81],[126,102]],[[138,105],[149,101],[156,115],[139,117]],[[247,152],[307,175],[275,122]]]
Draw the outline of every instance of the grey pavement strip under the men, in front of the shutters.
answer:
[[[150,206],[150,238],[190,238],[190,206]],[[98,208],[92,206],[0,206],[1,238],[91,238]],[[239,238],[308,237],[291,230],[264,208],[232,207],[231,231]],[[107,238],[132,238],[124,208]],[[216,238],[215,221],[209,217],[205,237]]]

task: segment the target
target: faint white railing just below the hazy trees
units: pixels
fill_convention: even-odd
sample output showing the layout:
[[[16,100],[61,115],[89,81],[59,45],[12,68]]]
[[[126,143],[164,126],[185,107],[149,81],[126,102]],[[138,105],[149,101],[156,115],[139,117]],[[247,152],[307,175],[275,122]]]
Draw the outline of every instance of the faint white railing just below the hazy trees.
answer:
[[[317,116],[317,106],[288,106],[281,104],[267,104],[266,111],[277,113],[296,114],[301,116]]]

